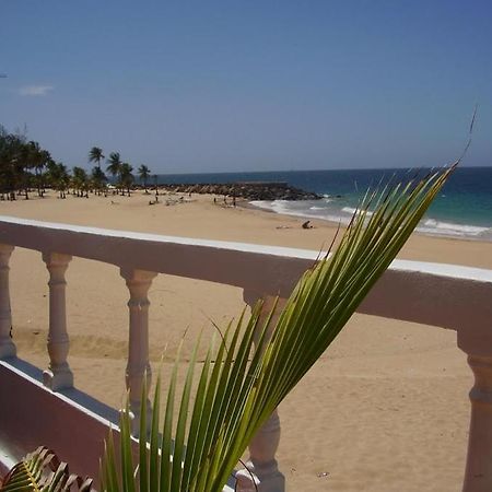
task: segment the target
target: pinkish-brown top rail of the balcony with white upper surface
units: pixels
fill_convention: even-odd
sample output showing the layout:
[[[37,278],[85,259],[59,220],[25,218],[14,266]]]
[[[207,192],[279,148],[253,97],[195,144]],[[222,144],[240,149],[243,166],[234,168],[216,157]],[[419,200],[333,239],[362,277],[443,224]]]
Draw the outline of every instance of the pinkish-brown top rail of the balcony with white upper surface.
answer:
[[[120,268],[242,288],[247,298],[288,296],[323,253],[162,236],[0,215],[0,243],[62,253]],[[492,270],[395,260],[360,306],[362,313],[491,336]],[[459,340],[458,340],[459,341]]]

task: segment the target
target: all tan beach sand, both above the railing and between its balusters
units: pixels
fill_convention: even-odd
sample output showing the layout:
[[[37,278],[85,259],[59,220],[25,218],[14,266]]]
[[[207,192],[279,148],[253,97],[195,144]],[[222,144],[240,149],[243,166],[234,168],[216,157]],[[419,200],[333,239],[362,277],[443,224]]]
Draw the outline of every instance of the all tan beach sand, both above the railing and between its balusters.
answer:
[[[149,206],[153,196],[68,196],[0,202],[0,214],[165,235],[319,250],[336,227],[302,218],[213,204],[194,196]],[[492,269],[492,243],[413,235],[399,258]],[[74,258],[67,272],[69,361],[75,385],[118,408],[125,397],[128,291],[116,267]],[[47,271],[40,255],[16,248],[11,261],[19,355],[47,365]],[[149,294],[151,359],[165,350],[163,380],[183,333],[184,356],[210,320],[224,326],[243,308],[242,292],[159,276]],[[456,336],[444,329],[354,315],[280,407],[278,452],[291,492],[461,490],[472,375]]]

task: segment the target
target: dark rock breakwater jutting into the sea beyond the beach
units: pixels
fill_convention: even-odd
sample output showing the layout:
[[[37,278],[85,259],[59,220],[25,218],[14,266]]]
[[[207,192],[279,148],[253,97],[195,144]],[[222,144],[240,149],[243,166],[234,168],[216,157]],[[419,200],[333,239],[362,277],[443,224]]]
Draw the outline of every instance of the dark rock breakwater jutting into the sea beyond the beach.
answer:
[[[160,185],[166,191],[179,194],[209,194],[244,198],[246,200],[319,200],[320,195],[304,191],[286,183],[230,183],[196,185]]]

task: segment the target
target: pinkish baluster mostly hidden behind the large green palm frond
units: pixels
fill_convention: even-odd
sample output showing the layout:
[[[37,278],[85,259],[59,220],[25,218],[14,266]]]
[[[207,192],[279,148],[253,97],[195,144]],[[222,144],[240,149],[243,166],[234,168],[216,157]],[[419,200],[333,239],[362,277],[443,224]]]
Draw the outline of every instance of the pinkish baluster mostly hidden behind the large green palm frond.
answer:
[[[244,300],[249,306],[254,306],[258,300],[258,294],[254,292],[244,292]],[[274,303],[274,297],[267,296],[262,307],[261,321],[269,316]],[[273,329],[274,321],[278,318],[281,307],[285,303],[280,300],[277,305],[277,314],[272,317],[270,329]],[[261,325],[260,325],[261,326]],[[271,337],[271,332],[267,337]],[[280,443],[280,419],[277,410],[270,415],[268,421],[257,432],[249,443],[249,459],[247,468],[238,472],[238,491],[256,490],[253,484],[253,473],[258,478],[256,487],[259,492],[283,492],[285,490],[285,477],[279,471],[279,465],[276,459],[276,453]]]

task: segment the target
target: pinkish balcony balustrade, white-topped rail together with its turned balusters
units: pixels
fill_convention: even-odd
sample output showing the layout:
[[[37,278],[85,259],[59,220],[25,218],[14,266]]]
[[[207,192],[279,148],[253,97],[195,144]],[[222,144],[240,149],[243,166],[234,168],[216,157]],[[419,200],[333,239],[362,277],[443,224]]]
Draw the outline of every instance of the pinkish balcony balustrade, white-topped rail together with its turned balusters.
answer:
[[[73,383],[68,366],[65,272],[71,256],[120,268],[129,292],[127,385],[138,417],[143,377],[150,382],[148,291],[156,273],[224,283],[243,289],[251,305],[259,296],[286,297],[318,251],[157,236],[0,216],[0,359],[15,355],[10,338],[9,258],[14,246],[43,255],[50,273],[50,319],[46,383],[54,389]],[[155,272],[155,273],[153,273]],[[358,309],[375,316],[455,330],[458,347],[468,354],[475,386],[464,492],[492,490],[492,271],[458,266],[395,261]],[[137,423],[138,419],[136,420]],[[278,414],[253,440],[250,464],[260,491],[283,491],[276,452]],[[248,478],[249,477],[249,478]],[[268,488],[268,477],[272,480]],[[278,479],[278,480],[277,480]],[[277,480],[277,481],[276,481]],[[239,472],[246,491],[255,488]],[[265,487],[265,489],[263,489]]]

